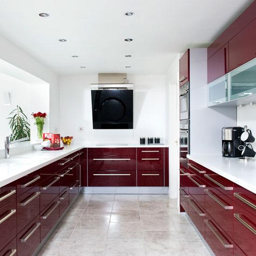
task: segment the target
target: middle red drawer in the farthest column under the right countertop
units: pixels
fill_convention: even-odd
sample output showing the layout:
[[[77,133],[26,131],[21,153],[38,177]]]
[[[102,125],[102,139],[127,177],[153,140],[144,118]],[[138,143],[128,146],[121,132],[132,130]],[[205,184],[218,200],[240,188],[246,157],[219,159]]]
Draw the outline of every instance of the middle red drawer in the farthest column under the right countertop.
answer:
[[[204,180],[202,180],[198,175],[188,175],[189,179],[189,195],[192,195],[195,200],[201,205],[202,208],[205,208],[204,200],[204,189],[206,187]]]

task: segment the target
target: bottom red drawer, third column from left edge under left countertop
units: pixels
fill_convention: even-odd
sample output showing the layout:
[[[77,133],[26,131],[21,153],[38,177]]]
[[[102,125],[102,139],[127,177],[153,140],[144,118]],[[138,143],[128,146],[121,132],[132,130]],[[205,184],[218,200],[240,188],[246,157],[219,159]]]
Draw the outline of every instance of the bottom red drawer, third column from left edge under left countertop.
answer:
[[[55,223],[59,220],[60,217],[60,201],[59,196],[57,196],[53,202],[51,202],[45,210],[40,214],[40,239],[41,242],[47,236],[49,231],[53,228]]]

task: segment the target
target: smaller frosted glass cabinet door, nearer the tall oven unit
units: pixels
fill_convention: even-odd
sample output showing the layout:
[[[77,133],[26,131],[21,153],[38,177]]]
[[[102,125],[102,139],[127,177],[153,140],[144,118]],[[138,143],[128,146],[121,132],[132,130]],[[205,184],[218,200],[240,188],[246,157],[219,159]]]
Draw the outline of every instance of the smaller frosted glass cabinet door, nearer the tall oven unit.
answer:
[[[228,100],[228,75],[223,75],[207,85],[208,107],[224,103]]]

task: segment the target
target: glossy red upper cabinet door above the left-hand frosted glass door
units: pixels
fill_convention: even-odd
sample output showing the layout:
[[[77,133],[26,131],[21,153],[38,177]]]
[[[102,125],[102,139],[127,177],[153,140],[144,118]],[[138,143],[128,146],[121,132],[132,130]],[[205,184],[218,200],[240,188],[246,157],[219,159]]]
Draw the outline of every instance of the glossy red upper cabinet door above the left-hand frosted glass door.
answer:
[[[207,82],[226,74],[229,70],[229,44],[221,47],[207,60]]]

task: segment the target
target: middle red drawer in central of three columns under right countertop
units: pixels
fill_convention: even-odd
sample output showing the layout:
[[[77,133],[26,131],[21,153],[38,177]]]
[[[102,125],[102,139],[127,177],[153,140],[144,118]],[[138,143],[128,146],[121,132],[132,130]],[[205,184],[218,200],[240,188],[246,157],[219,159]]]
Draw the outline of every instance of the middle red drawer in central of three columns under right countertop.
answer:
[[[205,189],[205,210],[233,239],[233,200],[209,183]]]

